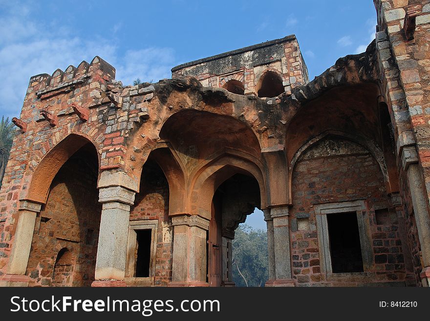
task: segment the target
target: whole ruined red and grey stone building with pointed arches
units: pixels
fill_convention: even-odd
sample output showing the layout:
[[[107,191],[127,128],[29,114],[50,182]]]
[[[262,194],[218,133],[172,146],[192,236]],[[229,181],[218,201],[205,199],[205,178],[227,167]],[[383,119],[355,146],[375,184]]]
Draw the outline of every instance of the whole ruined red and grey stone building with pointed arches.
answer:
[[[314,80],[295,36],[123,86],[100,57],[31,77],[0,191],[0,282],[429,286],[430,1],[375,0],[376,40]]]

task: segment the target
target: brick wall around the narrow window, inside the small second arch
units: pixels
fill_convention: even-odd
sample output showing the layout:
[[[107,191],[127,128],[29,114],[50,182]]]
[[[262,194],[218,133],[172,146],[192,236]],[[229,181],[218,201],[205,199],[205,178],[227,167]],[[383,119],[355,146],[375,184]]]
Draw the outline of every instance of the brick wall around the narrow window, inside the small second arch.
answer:
[[[158,219],[155,285],[166,286],[172,280],[172,238],[163,235],[163,223],[169,224],[170,221],[169,184],[163,171],[151,160],[143,167],[140,192],[136,193],[130,210],[130,220],[141,219]]]

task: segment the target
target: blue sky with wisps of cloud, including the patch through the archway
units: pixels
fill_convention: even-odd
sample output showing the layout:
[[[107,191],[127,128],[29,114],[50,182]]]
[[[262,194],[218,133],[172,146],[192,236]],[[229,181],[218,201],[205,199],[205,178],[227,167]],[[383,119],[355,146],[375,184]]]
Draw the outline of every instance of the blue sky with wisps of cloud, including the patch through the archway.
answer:
[[[99,55],[116,79],[170,78],[185,62],[296,34],[312,80],[375,35],[372,0],[0,0],[0,115],[19,117],[31,76]],[[264,227],[262,214],[247,224]]]

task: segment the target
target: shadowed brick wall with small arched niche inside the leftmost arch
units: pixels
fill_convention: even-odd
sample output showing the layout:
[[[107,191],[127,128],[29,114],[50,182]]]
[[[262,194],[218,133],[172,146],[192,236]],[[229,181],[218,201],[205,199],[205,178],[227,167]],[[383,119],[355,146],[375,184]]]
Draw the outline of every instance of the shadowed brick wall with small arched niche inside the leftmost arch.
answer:
[[[30,285],[91,285],[101,214],[96,185],[97,155],[83,147],[57,173],[37,215],[27,267]],[[56,264],[62,249],[68,250],[68,262]]]

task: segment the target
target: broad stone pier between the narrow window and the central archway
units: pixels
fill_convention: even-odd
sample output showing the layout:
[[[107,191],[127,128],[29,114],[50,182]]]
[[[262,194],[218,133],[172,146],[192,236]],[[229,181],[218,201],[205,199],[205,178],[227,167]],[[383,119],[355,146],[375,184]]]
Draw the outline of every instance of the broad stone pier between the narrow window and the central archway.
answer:
[[[169,286],[208,286],[209,220],[198,215],[172,216],[173,259]]]

